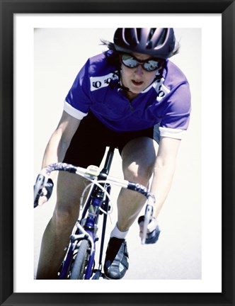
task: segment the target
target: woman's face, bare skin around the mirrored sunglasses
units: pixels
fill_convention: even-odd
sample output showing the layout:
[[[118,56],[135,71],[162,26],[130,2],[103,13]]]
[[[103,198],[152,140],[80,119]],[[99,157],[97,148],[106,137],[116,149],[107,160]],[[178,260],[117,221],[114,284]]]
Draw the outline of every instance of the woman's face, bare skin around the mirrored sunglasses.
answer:
[[[149,55],[140,53],[132,53],[137,60],[149,60]],[[140,92],[146,89],[156,76],[156,70],[153,72],[147,72],[143,69],[142,65],[138,65],[135,68],[128,68],[121,63],[121,80],[123,86],[127,87],[127,97],[132,99],[136,97]]]

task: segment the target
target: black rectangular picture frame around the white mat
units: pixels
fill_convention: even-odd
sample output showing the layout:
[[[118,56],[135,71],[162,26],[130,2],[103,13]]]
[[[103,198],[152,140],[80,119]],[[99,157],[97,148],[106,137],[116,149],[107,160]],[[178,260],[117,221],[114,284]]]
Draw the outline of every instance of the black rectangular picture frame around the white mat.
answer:
[[[1,305],[235,305],[234,0],[143,2],[139,0],[0,0],[0,5]],[[13,293],[13,15],[15,13],[222,13],[222,293]]]

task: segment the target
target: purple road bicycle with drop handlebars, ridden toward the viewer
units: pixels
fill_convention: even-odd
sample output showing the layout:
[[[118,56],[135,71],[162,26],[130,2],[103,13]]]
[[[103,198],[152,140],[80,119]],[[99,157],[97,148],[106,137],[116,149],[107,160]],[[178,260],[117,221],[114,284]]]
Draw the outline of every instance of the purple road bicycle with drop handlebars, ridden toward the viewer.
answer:
[[[98,280],[103,277],[103,246],[107,216],[110,213],[110,191],[112,184],[136,191],[147,198],[142,236],[142,244],[145,244],[147,225],[153,214],[155,198],[145,186],[124,179],[117,179],[109,175],[114,151],[115,147],[108,149],[105,164],[101,171],[98,166],[91,165],[87,169],[84,169],[79,166],[60,162],[48,165],[38,175],[34,188],[34,208],[38,206],[38,197],[52,171],[68,171],[91,181],[81,196],[81,214],[71,232],[69,245],[67,246],[67,254],[58,271],[59,279]],[[83,205],[82,199],[88,188],[90,188],[90,191]],[[103,215],[103,225],[101,245],[98,254],[98,267],[96,268],[96,242],[99,239],[97,235],[98,220],[101,215]]]

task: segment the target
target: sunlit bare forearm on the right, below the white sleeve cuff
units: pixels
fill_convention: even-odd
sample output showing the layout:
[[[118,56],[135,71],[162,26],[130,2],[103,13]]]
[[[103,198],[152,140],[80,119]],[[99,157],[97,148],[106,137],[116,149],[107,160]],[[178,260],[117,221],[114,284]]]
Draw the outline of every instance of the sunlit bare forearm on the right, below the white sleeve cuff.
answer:
[[[161,207],[170,191],[179,145],[180,140],[161,137],[159,152],[154,166],[154,177],[151,183],[151,192],[156,197],[154,217],[159,215]]]

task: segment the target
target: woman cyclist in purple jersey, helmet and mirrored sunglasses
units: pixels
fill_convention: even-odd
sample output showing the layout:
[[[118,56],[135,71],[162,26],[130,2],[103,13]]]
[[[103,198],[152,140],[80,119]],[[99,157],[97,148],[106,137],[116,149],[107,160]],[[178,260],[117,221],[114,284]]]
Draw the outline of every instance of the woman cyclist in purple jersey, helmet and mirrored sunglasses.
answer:
[[[45,149],[42,167],[67,162],[100,164],[115,145],[125,179],[147,186],[156,198],[147,243],[159,238],[156,218],[168,196],[180,140],[190,119],[188,81],[168,60],[179,50],[173,28],[117,28],[108,50],[87,60],[64,101],[62,118]],[[39,203],[52,193],[51,176]],[[84,179],[59,172],[57,203],[42,237],[37,278],[57,278],[64,247],[79,214]],[[126,237],[144,197],[122,189],[117,223],[110,233],[105,276],[119,279],[128,269]],[[139,218],[140,236],[143,217]]]

